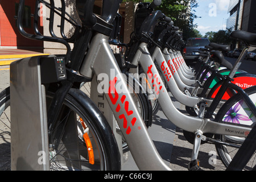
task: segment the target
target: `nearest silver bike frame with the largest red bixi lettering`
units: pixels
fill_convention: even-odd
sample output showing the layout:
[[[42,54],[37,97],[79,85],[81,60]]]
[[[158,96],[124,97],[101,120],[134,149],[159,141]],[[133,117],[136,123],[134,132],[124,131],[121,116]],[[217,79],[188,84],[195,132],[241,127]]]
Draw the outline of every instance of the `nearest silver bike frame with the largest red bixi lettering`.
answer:
[[[115,75],[111,72],[113,70]],[[138,113],[137,106],[129,94],[129,89],[123,86],[122,93],[117,93],[115,90],[115,85],[126,85],[126,81],[122,78],[109,46],[108,36],[102,34],[94,36],[80,73],[86,77],[93,77],[95,74],[96,78],[100,74],[105,74],[110,78],[108,80],[110,82],[109,89],[105,88],[104,90],[105,98],[109,102],[138,168],[141,170],[170,170],[158,154],[144,121]],[[97,81],[101,84],[99,80]]]

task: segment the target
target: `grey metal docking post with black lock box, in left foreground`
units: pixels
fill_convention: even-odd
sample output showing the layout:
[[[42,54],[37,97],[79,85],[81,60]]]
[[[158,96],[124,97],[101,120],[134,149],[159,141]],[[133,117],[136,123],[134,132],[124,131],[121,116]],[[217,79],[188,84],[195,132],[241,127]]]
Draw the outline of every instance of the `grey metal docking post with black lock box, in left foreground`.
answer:
[[[11,170],[49,170],[43,84],[66,78],[64,57],[35,56],[10,64]]]

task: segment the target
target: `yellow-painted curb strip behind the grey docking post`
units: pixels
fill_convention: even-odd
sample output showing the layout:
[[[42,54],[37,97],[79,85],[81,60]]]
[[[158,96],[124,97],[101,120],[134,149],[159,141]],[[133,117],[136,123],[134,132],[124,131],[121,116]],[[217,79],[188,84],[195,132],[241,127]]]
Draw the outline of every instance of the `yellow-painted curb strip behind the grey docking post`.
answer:
[[[24,57],[32,57],[39,55],[48,55],[42,52],[27,51],[23,49],[0,49],[0,66],[10,65],[11,62],[22,59]]]

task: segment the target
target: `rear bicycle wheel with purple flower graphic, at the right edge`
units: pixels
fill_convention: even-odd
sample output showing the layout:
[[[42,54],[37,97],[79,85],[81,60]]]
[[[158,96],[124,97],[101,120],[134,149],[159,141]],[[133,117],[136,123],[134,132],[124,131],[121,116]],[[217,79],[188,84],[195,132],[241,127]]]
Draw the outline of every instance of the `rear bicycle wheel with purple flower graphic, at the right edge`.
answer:
[[[245,92],[248,94],[248,96],[251,98],[251,100],[256,104],[256,86],[252,86],[250,88],[245,89]],[[239,105],[238,105],[239,104]],[[241,106],[240,106],[241,105]],[[216,121],[218,122],[227,122],[227,121],[232,121],[232,122],[237,122],[239,119],[241,119],[239,122],[241,122],[241,125],[246,125],[246,121],[242,121],[243,118],[247,120],[247,125],[251,125],[256,121],[256,118],[254,115],[250,113],[250,110],[247,109],[249,108],[245,102],[243,102],[242,97],[240,94],[236,94],[233,97],[231,97],[225,104],[221,107],[220,111],[218,111],[216,115]],[[229,112],[228,112],[229,111]],[[246,117],[241,117],[238,114],[243,114]],[[226,117],[225,117],[226,116]],[[249,118],[251,121],[249,121]],[[234,121],[233,121],[234,120]],[[243,143],[243,138],[239,137],[230,137],[227,135],[214,135],[214,138],[217,140],[220,140],[222,142],[230,142],[233,144],[237,144],[238,147],[241,146]],[[229,163],[232,161],[233,156],[236,154],[237,150],[234,150],[234,147],[228,147],[223,144],[215,144],[216,151],[218,153],[218,156],[220,157],[222,163],[228,167]],[[249,163],[247,163],[245,169],[252,169],[253,166],[256,163],[256,154],[252,156],[251,160]],[[255,161],[254,161],[255,160]]]

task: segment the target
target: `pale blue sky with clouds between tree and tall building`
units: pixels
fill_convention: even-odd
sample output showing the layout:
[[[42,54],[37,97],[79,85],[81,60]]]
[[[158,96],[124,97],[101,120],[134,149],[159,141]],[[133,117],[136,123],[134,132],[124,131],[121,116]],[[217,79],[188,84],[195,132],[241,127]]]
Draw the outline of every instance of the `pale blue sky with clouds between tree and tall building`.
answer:
[[[230,0],[197,0],[198,7],[194,8],[197,16],[194,23],[197,30],[204,36],[206,32],[226,30],[225,21],[229,18],[228,7]]]

